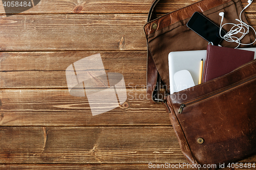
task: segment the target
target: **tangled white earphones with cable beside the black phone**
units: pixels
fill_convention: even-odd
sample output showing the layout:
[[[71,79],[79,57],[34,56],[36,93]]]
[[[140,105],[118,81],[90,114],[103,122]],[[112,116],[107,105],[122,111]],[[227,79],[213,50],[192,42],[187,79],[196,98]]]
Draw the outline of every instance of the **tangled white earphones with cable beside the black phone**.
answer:
[[[220,27],[220,37],[223,38],[224,40],[226,40],[227,42],[236,42],[236,43],[238,43],[238,46],[237,46],[237,47],[239,47],[239,45],[251,45],[251,44],[253,44],[253,43],[256,41],[256,38],[255,38],[255,40],[254,40],[252,43],[249,43],[249,44],[243,44],[243,43],[240,42],[241,39],[244,38],[244,36],[249,33],[249,28],[251,28],[251,29],[254,31],[254,35],[256,36],[255,30],[254,30],[251,26],[247,25],[247,23],[243,22],[242,19],[241,19],[241,14],[242,14],[242,12],[243,12],[247,7],[249,7],[249,5],[251,5],[252,0],[249,0],[248,3],[249,3],[249,4],[248,4],[248,5],[241,11],[241,13],[240,13],[240,16],[239,16],[239,17],[240,17],[240,20],[239,20],[239,19],[236,19],[237,21],[240,22],[239,24],[225,23],[224,25],[222,25],[222,22],[223,22],[223,19],[224,19],[224,12],[220,12],[220,13],[219,13],[219,15],[222,17],[222,18],[221,18],[221,25],[222,25],[222,26]],[[224,36],[222,36],[222,35],[221,35],[221,30],[222,30],[222,27],[225,26],[225,25],[233,25],[233,27],[230,29],[230,31],[229,31],[227,34],[225,34]],[[236,34],[238,34],[238,33],[241,33],[241,34],[242,34],[240,38],[234,36],[234,35],[236,35]],[[236,48],[237,48],[237,47],[236,47]]]

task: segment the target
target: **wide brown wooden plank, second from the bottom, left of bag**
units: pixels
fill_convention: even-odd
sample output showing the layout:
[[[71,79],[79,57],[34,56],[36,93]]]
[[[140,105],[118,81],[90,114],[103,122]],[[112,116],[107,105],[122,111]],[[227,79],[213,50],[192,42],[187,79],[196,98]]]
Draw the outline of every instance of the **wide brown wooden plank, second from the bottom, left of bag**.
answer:
[[[186,162],[172,127],[0,127],[0,163]]]

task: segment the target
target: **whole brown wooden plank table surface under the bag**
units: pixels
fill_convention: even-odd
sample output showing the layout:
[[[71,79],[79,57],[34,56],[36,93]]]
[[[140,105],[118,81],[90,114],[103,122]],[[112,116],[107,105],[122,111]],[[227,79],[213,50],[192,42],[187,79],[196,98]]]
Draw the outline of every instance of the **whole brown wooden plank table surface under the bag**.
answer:
[[[166,0],[157,9],[167,13],[195,2]],[[187,163],[164,107],[145,97],[143,25],[151,3],[41,0],[7,17],[0,2],[0,169],[148,169],[149,163]],[[246,15],[256,29],[255,9],[256,2]],[[123,75],[127,100],[92,116],[87,98],[69,94],[65,71],[97,53],[106,72]],[[256,156],[239,163],[246,162],[256,162]]]

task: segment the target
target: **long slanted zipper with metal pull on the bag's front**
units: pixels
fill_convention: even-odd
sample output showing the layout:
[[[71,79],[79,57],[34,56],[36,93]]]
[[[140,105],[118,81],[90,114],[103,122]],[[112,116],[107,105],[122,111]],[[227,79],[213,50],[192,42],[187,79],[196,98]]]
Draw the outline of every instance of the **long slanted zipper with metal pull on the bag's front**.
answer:
[[[255,81],[256,80],[255,78],[256,78],[256,76],[253,76],[253,77],[245,79],[245,80],[243,80],[243,81],[241,81],[239,83],[236,83],[236,84],[234,84],[232,86],[229,86],[229,87],[217,90],[215,92],[212,92],[212,93],[210,93],[210,94],[208,94],[206,96],[203,96],[203,97],[201,97],[201,98],[199,98],[197,100],[190,101],[190,102],[185,102],[183,104],[180,104],[180,108],[178,110],[178,113],[181,114],[183,109],[184,109],[184,107],[186,107],[186,106],[193,105],[193,104],[196,104],[198,102],[203,102],[204,100],[208,100],[208,99],[214,98],[215,96],[217,96],[217,95],[219,95],[219,94],[221,94],[221,93],[223,93],[225,91],[229,91],[232,88],[238,88],[238,87],[242,86],[243,84],[247,84],[247,83],[250,83],[252,81]]]

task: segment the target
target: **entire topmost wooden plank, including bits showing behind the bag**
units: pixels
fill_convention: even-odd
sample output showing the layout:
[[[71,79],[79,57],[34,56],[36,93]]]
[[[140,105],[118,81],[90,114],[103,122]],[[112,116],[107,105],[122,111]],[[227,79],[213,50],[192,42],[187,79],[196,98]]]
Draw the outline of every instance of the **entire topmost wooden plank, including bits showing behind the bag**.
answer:
[[[143,1],[132,1],[132,0],[116,0],[116,1],[107,1],[107,0],[88,0],[88,1],[72,1],[72,0],[62,0],[62,1],[53,1],[46,0],[40,1],[39,4],[33,8],[22,12],[22,14],[88,14],[88,13],[148,13],[150,10],[152,0],[143,0]],[[157,5],[157,12],[168,13],[175,11],[177,9],[183,8],[190,4],[196,3],[198,0],[183,0],[183,1],[169,1],[164,0],[160,1]],[[243,6],[247,5],[247,0],[241,1]],[[252,3],[250,8],[246,12],[255,12],[255,3]],[[17,14],[17,10],[13,9],[9,11],[10,13]],[[2,1],[0,2],[0,14],[6,14]]]

